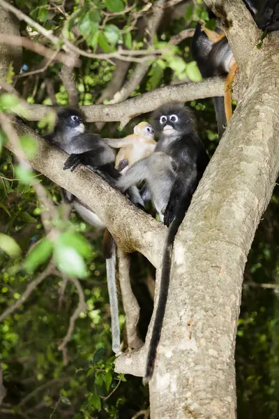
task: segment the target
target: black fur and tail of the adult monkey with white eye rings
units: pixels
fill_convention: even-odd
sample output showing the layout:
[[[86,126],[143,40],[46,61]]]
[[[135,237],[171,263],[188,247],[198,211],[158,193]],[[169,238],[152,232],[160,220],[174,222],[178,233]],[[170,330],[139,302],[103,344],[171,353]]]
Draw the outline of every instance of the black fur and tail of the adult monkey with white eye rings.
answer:
[[[167,117],[165,123],[160,123],[162,115]],[[177,122],[172,121],[171,115],[176,115],[179,120]],[[165,136],[163,128],[166,125],[171,125],[175,129],[172,137],[170,135]],[[153,126],[156,132],[160,134],[160,140],[155,152],[164,152],[172,158],[176,168],[176,177],[164,214],[164,223],[167,226],[170,224],[170,226],[163,256],[158,307],[149,344],[144,383],[149,381],[153,373],[156,350],[160,341],[169,289],[174,238],[188,210],[193,193],[209,162],[206,149],[195,133],[193,119],[188,108],[185,108],[183,105],[163,106],[154,112]]]

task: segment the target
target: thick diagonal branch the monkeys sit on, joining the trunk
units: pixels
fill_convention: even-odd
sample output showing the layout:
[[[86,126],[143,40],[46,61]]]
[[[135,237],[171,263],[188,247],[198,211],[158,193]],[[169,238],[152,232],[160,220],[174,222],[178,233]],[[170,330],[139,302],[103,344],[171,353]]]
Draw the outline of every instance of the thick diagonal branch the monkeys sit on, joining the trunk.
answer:
[[[68,154],[52,147],[28,126],[15,122],[15,129],[18,135],[29,133],[38,140],[36,156],[25,159],[34,169],[73,193],[96,212],[123,251],[140,251],[154,266],[158,265],[167,231],[161,223],[135,207],[122,193],[112,189],[88,168],[81,166],[75,172],[63,170]],[[15,154],[18,151],[12,142],[6,147]]]

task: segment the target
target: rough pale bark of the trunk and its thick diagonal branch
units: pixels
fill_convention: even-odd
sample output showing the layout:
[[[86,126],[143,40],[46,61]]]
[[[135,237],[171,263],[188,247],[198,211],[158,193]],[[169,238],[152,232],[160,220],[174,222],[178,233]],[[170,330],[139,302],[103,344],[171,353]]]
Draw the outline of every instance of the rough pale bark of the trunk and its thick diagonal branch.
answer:
[[[206,3],[214,9],[217,1]],[[241,0],[219,0],[218,13],[226,17],[225,30],[240,66],[239,103],[175,240],[169,298],[149,383],[152,419],[235,418],[234,347],[243,270],[279,170],[278,35],[268,36],[257,50],[260,32]],[[90,113],[93,107],[88,108]],[[116,117],[116,108],[94,110],[112,118],[109,110]],[[121,111],[117,115],[122,120]],[[40,142],[40,147],[47,146]],[[86,200],[121,247],[124,242],[124,251],[137,249],[151,260],[158,268],[158,295],[165,228],[86,168],[57,170],[65,155],[49,146],[40,154],[40,147],[33,167]],[[143,348],[117,358],[117,372],[143,375],[150,332]]]

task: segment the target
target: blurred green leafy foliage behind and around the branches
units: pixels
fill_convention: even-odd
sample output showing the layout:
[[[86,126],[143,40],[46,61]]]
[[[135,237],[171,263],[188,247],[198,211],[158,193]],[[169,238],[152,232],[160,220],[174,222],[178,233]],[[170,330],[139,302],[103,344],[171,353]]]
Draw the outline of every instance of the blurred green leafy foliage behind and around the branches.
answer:
[[[92,52],[101,50],[105,53],[115,52],[119,45],[128,50],[146,45],[139,34],[135,15],[145,17],[152,4],[153,1],[131,4],[124,0],[15,0],[17,8],[43,24],[45,29],[55,34],[64,29],[67,38],[78,41],[77,45],[83,45],[83,50],[90,48]],[[167,10],[167,21],[164,20],[153,40],[153,48],[164,50],[168,47],[169,50],[149,62],[146,76],[131,96],[163,84],[200,80],[190,55],[190,40],[186,38],[171,48],[168,43],[185,27],[195,27],[197,20],[211,29],[214,22],[209,20],[199,0],[186,6],[180,17],[177,15],[174,17]],[[31,30],[24,22],[20,29],[22,36],[28,36]],[[36,36],[34,32],[33,36]],[[42,63],[38,54],[24,50],[22,75],[38,69]],[[130,64],[127,78],[134,68],[135,64]],[[59,78],[60,71],[61,63],[53,61],[42,73],[19,78],[16,88],[29,103],[67,105],[68,96]],[[79,104],[96,103],[113,73],[112,61],[82,57],[82,65],[75,69]],[[13,68],[10,68],[7,82],[12,81],[13,75]],[[218,142],[212,103],[209,100],[193,101],[190,106],[197,116],[199,134],[212,155]],[[18,115],[23,112],[18,98],[10,94],[1,95],[0,110],[13,110]],[[140,118],[135,118],[132,124],[138,122]],[[43,121],[33,123],[33,128],[45,133],[53,124],[53,117],[47,115]],[[106,124],[102,133],[114,137],[130,131],[130,124],[124,131],[116,124]],[[6,135],[0,131],[1,312],[20,299],[33,279],[44,272],[51,258],[57,269],[12,315],[0,322],[0,357],[8,391],[0,406],[0,416],[4,419],[130,419],[148,408],[148,390],[142,387],[140,378],[114,373],[101,234],[74,212],[70,222],[65,221],[59,189],[40,176],[36,179],[40,179],[57,211],[52,220],[56,234],[46,237],[40,218],[43,209],[33,188],[34,173],[14,164],[10,152],[3,148],[5,142]],[[26,155],[36,153],[30,138],[22,137],[20,143]],[[272,419],[279,414],[278,200],[277,187],[257,231],[246,267],[236,346],[240,419],[263,416]],[[134,288],[137,288],[138,299],[144,301],[144,313],[150,312],[152,304],[151,301],[146,304],[148,292],[141,282],[146,276],[146,262],[138,258],[135,263],[137,269],[133,277],[137,280]],[[65,274],[69,276],[68,281],[65,281]],[[80,312],[66,349],[59,351],[70,317],[80,302],[77,288],[70,281],[73,276],[80,278],[86,311]],[[262,288],[262,283],[271,284],[274,289]],[[143,336],[149,318],[143,320]],[[122,315],[121,323],[123,325]]]

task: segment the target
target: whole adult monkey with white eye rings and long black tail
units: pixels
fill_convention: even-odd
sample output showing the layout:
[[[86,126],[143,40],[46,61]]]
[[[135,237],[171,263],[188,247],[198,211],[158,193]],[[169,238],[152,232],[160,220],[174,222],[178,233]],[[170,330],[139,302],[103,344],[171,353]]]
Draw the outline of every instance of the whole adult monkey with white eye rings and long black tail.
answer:
[[[152,376],[160,340],[174,238],[209,162],[188,108],[177,104],[164,105],[154,112],[152,126],[160,137],[154,153],[133,164],[116,182],[117,187],[126,191],[144,180],[160,219],[169,226],[144,383]]]

